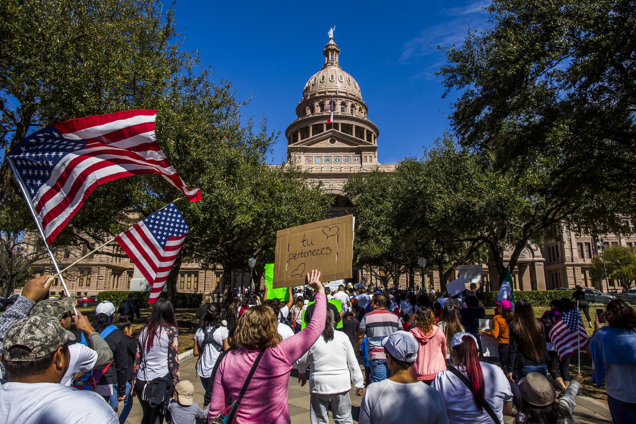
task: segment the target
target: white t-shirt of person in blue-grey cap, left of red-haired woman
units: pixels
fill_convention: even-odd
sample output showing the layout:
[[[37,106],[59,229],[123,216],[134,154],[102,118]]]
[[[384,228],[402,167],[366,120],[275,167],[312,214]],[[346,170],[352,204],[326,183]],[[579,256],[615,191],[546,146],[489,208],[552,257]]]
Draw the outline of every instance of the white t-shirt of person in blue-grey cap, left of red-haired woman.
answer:
[[[466,421],[470,422],[470,421]],[[358,424],[448,424],[441,396],[424,382],[371,383],[364,392]]]

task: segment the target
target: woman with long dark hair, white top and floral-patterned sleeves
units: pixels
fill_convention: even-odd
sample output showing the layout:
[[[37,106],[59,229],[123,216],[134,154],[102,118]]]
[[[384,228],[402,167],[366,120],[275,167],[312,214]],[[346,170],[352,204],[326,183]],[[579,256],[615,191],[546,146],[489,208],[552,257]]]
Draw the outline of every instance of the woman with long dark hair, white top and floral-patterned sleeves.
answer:
[[[148,318],[148,324],[137,337],[135,355],[134,394],[139,399],[144,416],[141,424],[163,423],[163,405],[151,406],[150,393],[144,393],[146,384],[159,379],[179,383],[179,331],[172,303],[158,299]]]

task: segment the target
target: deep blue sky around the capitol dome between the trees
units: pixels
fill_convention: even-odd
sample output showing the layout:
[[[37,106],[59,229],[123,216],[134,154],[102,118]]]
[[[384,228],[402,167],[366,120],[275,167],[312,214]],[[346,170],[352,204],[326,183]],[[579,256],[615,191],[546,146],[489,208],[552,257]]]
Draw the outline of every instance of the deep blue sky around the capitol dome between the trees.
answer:
[[[354,78],[380,128],[378,160],[396,163],[449,128],[456,97],[446,99],[435,76],[445,56],[437,46],[460,44],[469,25],[485,27],[489,1],[194,1],[177,0],[184,48],[198,49],[215,81],[228,79],[244,113],[266,116],[281,136],[272,163],[286,156],[284,130],[296,118],[303,87],[324,63],[327,32],[336,25],[340,65]]]

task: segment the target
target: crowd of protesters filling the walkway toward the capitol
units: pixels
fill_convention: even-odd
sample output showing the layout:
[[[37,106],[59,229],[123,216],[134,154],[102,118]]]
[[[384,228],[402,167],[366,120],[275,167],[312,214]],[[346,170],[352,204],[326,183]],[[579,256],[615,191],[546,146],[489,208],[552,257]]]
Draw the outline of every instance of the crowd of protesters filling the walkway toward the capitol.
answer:
[[[284,300],[235,290],[221,304],[206,295],[193,348],[200,407],[199,382],[179,379],[172,304],[158,299],[133,337],[140,312],[132,294],[118,310],[99,303],[90,322],[72,297],[48,299],[51,283],[46,275],[27,282],[0,314],[0,422],[124,423],[136,397],[142,424],[287,424],[292,372],[309,381],[312,423],[328,423],[329,411],[336,423],[353,423],[352,386],[365,424],[502,424],[513,405],[515,423],[575,422],[583,376],[570,376],[570,357],[558,356],[550,329],[577,307],[576,293],[539,319],[528,301],[498,301],[488,330],[476,285],[453,297],[362,284],[331,292],[312,270]],[[614,423],[633,423],[636,313],[612,300],[603,318],[587,350],[591,382],[605,383]],[[499,362],[483,357],[482,338],[497,340]]]

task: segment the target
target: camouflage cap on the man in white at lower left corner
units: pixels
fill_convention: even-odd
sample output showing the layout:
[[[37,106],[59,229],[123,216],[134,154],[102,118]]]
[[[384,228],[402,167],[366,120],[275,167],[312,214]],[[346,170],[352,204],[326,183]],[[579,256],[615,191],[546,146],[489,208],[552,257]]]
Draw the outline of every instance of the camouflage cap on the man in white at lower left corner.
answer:
[[[31,362],[55,352],[75,336],[50,315],[33,315],[11,325],[4,336],[4,360]],[[11,348],[19,346],[20,352]],[[28,352],[24,352],[27,350]]]

